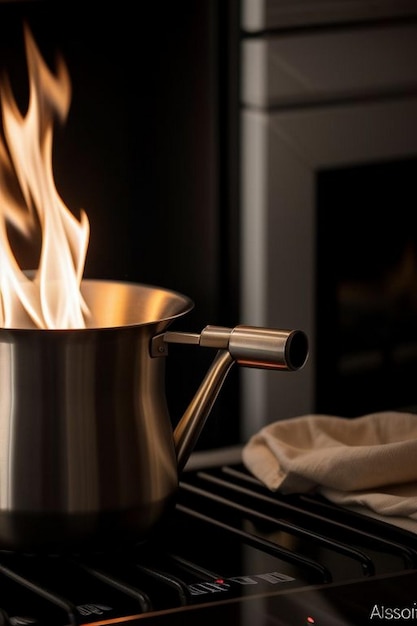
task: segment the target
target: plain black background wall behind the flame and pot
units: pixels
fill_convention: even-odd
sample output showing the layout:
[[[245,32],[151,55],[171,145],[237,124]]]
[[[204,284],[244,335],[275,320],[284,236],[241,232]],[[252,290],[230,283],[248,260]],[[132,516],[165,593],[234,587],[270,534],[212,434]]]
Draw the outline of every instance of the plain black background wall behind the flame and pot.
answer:
[[[178,290],[195,302],[177,328],[238,323],[232,158],[234,3],[0,3],[0,68],[27,98],[23,21],[51,67],[60,53],[73,95],[56,127],[54,174],[65,204],[83,208],[86,277]],[[170,350],[173,421],[214,356]],[[201,447],[238,436],[232,374]]]

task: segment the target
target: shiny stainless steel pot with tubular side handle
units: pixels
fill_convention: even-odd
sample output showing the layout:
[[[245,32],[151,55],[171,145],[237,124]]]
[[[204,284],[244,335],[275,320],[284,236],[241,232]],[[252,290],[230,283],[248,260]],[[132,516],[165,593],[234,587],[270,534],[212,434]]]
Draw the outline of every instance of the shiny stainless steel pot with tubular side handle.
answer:
[[[234,362],[297,370],[301,331],[167,331],[192,301],[152,286],[83,281],[81,330],[0,329],[0,548],[140,541],[175,502],[178,476]],[[217,351],[172,431],[171,342]]]

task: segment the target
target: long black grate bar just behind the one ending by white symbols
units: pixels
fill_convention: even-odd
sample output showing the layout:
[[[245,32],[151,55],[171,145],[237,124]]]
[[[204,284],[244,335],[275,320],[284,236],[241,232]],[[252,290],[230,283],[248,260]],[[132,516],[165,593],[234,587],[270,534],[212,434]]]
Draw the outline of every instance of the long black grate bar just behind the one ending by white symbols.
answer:
[[[206,478],[206,474],[204,472],[199,472],[198,476]],[[211,479],[212,477],[209,478]],[[249,518],[267,522],[268,524],[271,524],[280,530],[289,532],[290,534],[297,537],[302,537],[304,539],[307,539],[308,541],[314,541],[323,547],[329,548],[330,550],[338,552],[339,554],[343,554],[344,556],[360,563],[362,567],[362,572],[365,576],[373,576],[375,574],[375,567],[372,559],[363,551],[353,548],[346,543],[341,543],[340,541],[337,541],[335,539],[330,539],[329,537],[316,533],[311,529],[302,528],[301,526],[293,524],[292,522],[287,522],[285,520],[272,517],[271,515],[266,515],[265,513],[261,513],[260,511],[257,511],[252,507],[249,508],[247,506],[244,506],[243,504],[237,503],[234,500],[230,500],[218,494],[208,492],[207,490],[196,487],[195,485],[182,484],[182,486],[187,491],[200,495],[204,498],[208,498],[214,502],[221,504],[222,506],[231,508],[234,511],[239,511]]]

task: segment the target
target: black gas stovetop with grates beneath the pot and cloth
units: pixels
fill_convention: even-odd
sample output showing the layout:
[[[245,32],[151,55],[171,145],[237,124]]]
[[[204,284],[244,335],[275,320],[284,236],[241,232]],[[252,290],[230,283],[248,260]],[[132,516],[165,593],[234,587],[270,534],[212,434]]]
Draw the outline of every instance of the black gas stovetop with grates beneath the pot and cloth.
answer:
[[[146,543],[0,553],[0,624],[347,625],[417,619],[417,536],[316,495],[271,493],[239,459],[192,467]]]

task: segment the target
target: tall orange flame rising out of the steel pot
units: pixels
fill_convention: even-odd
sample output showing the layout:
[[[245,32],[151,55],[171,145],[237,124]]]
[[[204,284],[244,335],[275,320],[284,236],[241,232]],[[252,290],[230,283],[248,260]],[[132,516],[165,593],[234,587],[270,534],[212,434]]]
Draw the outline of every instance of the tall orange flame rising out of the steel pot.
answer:
[[[88,309],[80,293],[90,226],[59,196],[52,168],[53,122],[66,120],[71,82],[65,63],[52,74],[24,29],[29,103],[22,116],[7,77],[0,81],[0,326],[83,328]],[[9,230],[33,239],[40,228],[37,268],[21,268]],[[28,273],[25,269],[34,269]]]

